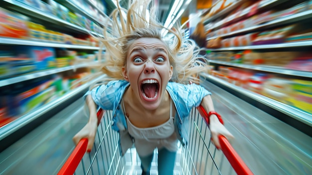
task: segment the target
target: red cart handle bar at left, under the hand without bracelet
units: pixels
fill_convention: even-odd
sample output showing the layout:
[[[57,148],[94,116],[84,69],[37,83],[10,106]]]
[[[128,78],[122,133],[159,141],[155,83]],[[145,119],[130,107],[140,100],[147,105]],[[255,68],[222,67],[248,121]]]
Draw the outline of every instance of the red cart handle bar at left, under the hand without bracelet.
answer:
[[[103,117],[104,110],[99,109],[97,112],[98,116],[98,126],[101,122],[101,119]],[[88,145],[88,139],[84,138],[81,139],[78,144],[76,145],[73,152],[70,154],[70,156],[67,158],[65,164],[60,169],[57,175],[73,175],[82,160],[83,156],[85,155],[87,151],[87,145]]]

